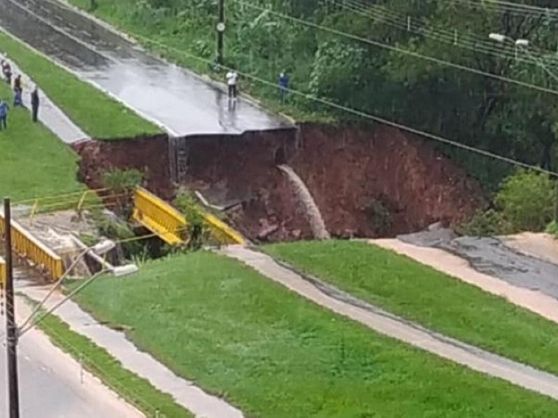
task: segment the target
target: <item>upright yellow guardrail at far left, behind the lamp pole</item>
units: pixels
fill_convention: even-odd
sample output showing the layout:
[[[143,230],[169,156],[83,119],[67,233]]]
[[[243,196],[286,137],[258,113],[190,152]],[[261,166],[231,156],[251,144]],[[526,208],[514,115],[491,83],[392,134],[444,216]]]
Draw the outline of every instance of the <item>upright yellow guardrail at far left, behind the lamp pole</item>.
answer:
[[[34,238],[19,223],[12,221],[12,247],[13,252],[20,257],[33,262],[52,280],[61,278],[64,274],[62,259],[50,248]],[[0,234],[3,237],[6,232],[6,223],[3,214],[0,213]]]

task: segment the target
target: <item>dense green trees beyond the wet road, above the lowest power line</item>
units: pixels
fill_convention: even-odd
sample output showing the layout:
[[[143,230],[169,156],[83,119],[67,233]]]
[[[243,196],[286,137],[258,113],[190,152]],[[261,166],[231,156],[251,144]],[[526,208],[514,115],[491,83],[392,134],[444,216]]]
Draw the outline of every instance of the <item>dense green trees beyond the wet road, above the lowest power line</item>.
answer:
[[[515,3],[225,0],[226,64],[269,82],[242,77],[242,87],[260,98],[279,98],[277,77],[287,70],[291,87],[304,94],[554,168],[555,95],[480,74],[558,90],[558,77],[540,65],[558,75],[558,13],[521,6],[549,8],[553,1]],[[207,70],[216,56],[217,0],[99,0],[97,13],[188,52],[180,59],[196,69]],[[516,50],[511,40],[498,43],[489,33],[530,45]],[[294,114],[357,117],[293,94],[288,107]],[[467,151],[443,150],[485,183],[497,184],[511,170]]]

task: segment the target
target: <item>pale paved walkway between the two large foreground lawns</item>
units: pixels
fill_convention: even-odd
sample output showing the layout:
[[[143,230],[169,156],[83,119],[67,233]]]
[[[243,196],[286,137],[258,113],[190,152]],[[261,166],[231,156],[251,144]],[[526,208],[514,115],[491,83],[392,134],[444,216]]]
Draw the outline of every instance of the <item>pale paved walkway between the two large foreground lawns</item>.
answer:
[[[316,280],[315,283],[311,283],[291,269],[282,267],[271,257],[251,251],[249,248],[229,246],[221,248],[219,252],[248,264],[260,274],[284,285],[315,304],[360,322],[374,331],[558,400],[557,376],[436,334],[365,304],[320,281]]]

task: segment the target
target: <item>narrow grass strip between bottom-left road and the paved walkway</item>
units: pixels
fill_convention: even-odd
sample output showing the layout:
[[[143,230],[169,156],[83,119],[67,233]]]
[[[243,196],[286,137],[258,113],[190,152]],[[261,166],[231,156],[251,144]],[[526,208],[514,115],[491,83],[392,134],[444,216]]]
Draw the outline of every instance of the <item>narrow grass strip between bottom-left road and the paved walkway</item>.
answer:
[[[124,368],[104,348],[98,347],[89,338],[72,331],[66,322],[57,316],[48,315],[38,327],[59,348],[81,361],[83,366],[103,381],[126,402],[134,405],[147,417],[191,418],[193,415],[178,405],[172,396],[156,389],[149,381]]]

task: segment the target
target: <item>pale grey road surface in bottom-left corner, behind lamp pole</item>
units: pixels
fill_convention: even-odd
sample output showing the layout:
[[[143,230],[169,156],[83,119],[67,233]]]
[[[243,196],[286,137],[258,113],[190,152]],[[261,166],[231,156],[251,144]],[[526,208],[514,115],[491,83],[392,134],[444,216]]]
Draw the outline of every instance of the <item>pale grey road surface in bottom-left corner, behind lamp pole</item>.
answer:
[[[18,299],[17,311],[24,318],[29,308]],[[0,315],[0,417],[8,417],[6,376],[6,317]],[[40,331],[29,331],[18,352],[21,418],[140,418],[140,412],[120,401],[98,380],[61,352]]]

